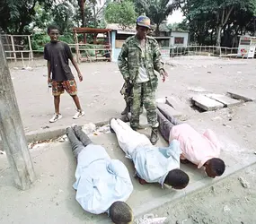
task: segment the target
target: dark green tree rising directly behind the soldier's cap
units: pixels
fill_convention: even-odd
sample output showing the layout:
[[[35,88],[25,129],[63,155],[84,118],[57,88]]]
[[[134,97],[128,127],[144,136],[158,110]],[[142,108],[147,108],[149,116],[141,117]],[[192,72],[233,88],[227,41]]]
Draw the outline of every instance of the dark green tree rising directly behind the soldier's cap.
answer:
[[[137,12],[146,13],[151,21],[156,25],[155,35],[160,34],[160,24],[165,22],[168,15],[179,7],[180,1],[173,0],[136,0]]]

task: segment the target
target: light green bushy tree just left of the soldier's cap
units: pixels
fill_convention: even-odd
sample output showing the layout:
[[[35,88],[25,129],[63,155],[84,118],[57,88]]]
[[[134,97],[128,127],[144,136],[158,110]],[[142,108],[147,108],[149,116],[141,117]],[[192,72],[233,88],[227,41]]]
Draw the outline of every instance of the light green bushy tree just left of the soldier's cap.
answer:
[[[136,23],[137,13],[135,5],[128,0],[112,2],[107,5],[105,10],[105,19],[110,23],[119,23],[120,27],[125,30]]]

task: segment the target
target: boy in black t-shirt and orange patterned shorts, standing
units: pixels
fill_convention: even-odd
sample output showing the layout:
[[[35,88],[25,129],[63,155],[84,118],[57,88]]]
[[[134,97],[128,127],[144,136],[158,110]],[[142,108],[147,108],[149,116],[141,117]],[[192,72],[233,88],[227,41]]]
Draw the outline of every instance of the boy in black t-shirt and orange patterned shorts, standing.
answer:
[[[48,34],[50,42],[44,47],[44,59],[48,61],[48,83],[51,83],[52,86],[55,106],[55,116],[53,116],[49,122],[54,123],[62,118],[59,113],[59,102],[60,95],[64,93],[64,90],[66,90],[66,92],[74,99],[77,113],[73,118],[78,119],[81,116],[84,116],[84,110],[81,108],[79,99],[76,95],[77,87],[74,75],[68,65],[68,59],[70,59],[75,66],[80,82],[83,81],[83,75],[75,62],[70,47],[66,43],[58,41],[58,28],[56,26],[49,26]],[[50,74],[52,74],[52,77],[50,77]]]

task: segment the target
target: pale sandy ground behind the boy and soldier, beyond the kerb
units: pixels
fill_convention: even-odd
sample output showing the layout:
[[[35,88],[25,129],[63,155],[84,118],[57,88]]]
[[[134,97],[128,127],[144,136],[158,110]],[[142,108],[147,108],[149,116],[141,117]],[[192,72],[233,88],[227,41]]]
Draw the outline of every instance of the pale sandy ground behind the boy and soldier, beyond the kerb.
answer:
[[[189,100],[200,92],[225,93],[230,89],[256,89],[255,60],[188,56],[164,58],[164,61],[169,78],[164,83],[159,82],[158,98],[173,95]],[[67,94],[63,95],[60,102],[63,119],[49,124],[54,107],[47,85],[47,67],[43,60],[30,66],[32,70],[21,70],[20,65],[10,64],[25,131],[72,124],[75,105]],[[125,103],[119,94],[123,79],[118,65],[105,62],[81,64],[79,67],[84,74],[84,82],[78,83],[78,95],[86,113],[80,121],[97,123],[119,116]]]

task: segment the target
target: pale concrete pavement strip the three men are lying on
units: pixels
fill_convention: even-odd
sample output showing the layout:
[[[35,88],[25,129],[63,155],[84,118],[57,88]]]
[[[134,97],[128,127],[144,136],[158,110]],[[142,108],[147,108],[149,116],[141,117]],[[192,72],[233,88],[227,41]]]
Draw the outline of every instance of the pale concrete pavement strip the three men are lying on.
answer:
[[[189,121],[190,125],[197,127],[199,131],[209,127],[214,128],[216,121],[209,123],[212,116],[207,115],[207,113],[203,115],[209,116],[209,118],[204,119],[204,122],[199,122],[195,118]],[[227,177],[256,161],[256,157],[251,155],[250,150],[238,145],[230,136],[226,135],[232,132],[226,133],[225,129],[223,125],[214,129],[217,136],[221,136],[220,141],[223,149],[221,157],[226,164],[223,177]],[[150,134],[149,129],[140,132],[147,136]],[[233,137],[236,141],[243,139],[241,134],[234,134]],[[181,165],[181,169],[190,176],[190,185],[184,190],[162,189],[157,184],[139,185],[137,179],[133,177],[134,166],[119,149],[115,134],[94,136],[93,142],[103,145],[111,158],[120,159],[128,167],[134,185],[134,192],[128,199],[128,204],[137,217],[163,206],[164,203],[173,202],[207,185],[213,185],[223,178],[210,179],[202,169],[192,165]],[[159,146],[167,145],[163,138],[160,138],[157,144]],[[246,153],[242,156],[241,152],[244,151]],[[30,190],[21,192],[13,187],[12,174],[7,159],[5,156],[0,156],[1,223],[110,223],[107,215],[89,214],[83,211],[75,201],[75,190],[72,188],[75,182],[75,159],[68,142],[44,144],[38,149],[33,149],[31,157],[38,181]]]

